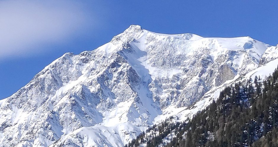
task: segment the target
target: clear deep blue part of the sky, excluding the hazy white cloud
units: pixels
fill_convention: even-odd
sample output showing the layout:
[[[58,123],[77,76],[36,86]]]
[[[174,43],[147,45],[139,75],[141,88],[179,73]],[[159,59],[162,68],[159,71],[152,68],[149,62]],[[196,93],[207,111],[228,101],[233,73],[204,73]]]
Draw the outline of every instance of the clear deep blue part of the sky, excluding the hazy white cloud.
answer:
[[[36,46],[45,52],[0,60],[0,99],[15,93],[64,53],[79,54],[81,51],[96,49],[131,24],[165,34],[193,33],[203,37],[250,36],[270,45],[278,43],[277,0],[107,0],[78,3],[89,18],[83,23],[95,23],[94,27],[79,30],[81,33],[72,34],[60,43],[42,43]]]

